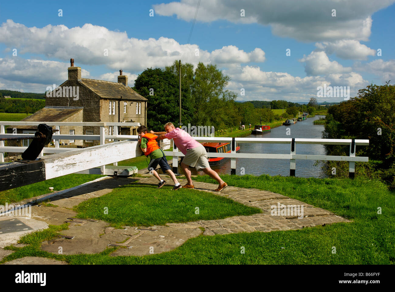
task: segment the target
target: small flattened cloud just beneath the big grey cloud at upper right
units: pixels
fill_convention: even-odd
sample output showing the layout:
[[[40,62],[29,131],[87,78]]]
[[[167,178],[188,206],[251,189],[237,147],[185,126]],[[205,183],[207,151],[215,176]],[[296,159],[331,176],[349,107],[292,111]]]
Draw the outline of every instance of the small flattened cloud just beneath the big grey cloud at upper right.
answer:
[[[376,50],[356,40],[316,43],[316,47],[324,50],[327,55],[336,54],[337,57],[342,59],[367,60],[368,56],[376,55]]]

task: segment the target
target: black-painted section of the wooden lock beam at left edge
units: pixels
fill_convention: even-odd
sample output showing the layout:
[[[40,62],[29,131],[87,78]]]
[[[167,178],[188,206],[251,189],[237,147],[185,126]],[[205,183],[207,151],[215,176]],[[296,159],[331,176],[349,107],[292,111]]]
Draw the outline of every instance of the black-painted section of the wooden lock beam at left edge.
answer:
[[[45,180],[43,161],[33,163],[11,162],[0,165],[0,191],[26,186]]]

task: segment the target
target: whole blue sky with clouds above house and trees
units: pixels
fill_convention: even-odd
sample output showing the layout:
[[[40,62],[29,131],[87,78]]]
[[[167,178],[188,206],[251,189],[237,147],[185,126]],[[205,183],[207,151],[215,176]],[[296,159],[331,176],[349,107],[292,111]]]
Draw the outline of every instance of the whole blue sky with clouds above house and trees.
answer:
[[[338,102],[395,83],[394,2],[2,1],[0,89],[44,93],[70,58],[82,78],[117,82],[122,69],[133,87],[181,59],[216,65],[240,101]]]

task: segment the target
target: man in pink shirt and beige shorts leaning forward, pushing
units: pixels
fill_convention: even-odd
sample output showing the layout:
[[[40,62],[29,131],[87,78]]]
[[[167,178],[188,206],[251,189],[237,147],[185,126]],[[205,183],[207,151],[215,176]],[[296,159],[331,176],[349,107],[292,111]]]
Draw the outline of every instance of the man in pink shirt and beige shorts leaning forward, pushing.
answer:
[[[218,173],[211,169],[207,159],[206,149],[202,144],[192,138],[191,135],[186,133],[184,130],[174,127],[172,123],[167,123],[165,125],[165,131],[166,132],[151,131],[151,134],[159,135],[156,140],[163,140],[164,138],[173,139],[175,145],[179,148],[182,154],[185,155],[184,159],[182,159],[181,167],[184,170],[188,183],[185,186],[182,186],[182,188],[195,188],[192,183],[189,166],[195,167],[197,171],[201,169],[204,171],[204,173],[211,176],[211,178],[214,178],[214,180],[216,180],[219,184],[215,191],[220,192],[226,188],[226,186],[228,186],[228,184],[226,184],[226,182],[220,178]]]

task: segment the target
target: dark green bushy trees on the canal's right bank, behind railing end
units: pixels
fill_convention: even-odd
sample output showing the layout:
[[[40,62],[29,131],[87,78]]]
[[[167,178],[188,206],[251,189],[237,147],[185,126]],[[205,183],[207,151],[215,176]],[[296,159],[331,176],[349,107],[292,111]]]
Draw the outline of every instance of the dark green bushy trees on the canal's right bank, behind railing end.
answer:
[[[357,146],[357,156],[368,163],[356,163],[355,176],[380,178],[395,187],[395,85],[370,84],[358,96],[328,109],[322,137],[369,139],[369,146]],[[349,155],[349,146],[326,145],[327,155]],[[331,163],[348,174],[348,163]],[[339,171],[337,171],[337,175]],[[341,173],[340,173],[341,174]]]

